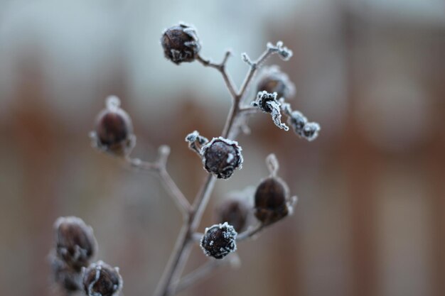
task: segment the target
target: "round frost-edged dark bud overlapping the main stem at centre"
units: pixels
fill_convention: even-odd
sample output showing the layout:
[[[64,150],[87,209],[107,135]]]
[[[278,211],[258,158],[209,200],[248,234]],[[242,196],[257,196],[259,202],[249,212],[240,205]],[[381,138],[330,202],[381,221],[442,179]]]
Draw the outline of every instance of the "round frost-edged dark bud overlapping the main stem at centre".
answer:
[[[227,179],[237,168],[242,168],[241,147],[237,141],[213,138],[201,148],[204,168],[219,179]]]

